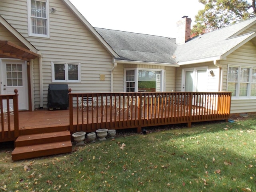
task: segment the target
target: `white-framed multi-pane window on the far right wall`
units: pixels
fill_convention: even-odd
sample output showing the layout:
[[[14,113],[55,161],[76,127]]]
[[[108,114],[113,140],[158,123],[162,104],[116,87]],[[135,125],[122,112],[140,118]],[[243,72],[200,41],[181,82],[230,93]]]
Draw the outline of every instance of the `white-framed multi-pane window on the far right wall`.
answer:
[[[232,92],[232,97],[255,97],[256,68],[245,66],[228,66],[227,90]]]

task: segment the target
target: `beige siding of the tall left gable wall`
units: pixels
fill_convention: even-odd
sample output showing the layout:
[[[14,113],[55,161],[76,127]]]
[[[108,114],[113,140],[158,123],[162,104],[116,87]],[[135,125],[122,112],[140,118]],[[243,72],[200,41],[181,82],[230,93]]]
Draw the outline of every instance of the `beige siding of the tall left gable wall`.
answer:
[[[110,92],[110,73],[113,68],[112,56],[78,20],[61,0],[50,0],[50,8],[57,11],[50,14],[50,38],[28,36],[27,0],[2,0],[0,14],[22,36],[42,53],[44,107],[47,104],[48,84],[52,82],[51,62],[81,63],[81,82],[68,84],[72,92],[92,90]],[[32,66],[34,105],[40,104],[39,62]],[[100,80],[100,74],[105,80]]]

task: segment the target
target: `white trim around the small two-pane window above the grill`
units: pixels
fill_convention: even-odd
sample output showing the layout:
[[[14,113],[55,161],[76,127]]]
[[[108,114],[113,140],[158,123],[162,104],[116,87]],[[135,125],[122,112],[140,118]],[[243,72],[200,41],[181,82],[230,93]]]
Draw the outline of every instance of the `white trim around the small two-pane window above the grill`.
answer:
[[[81,63],[74,63],[74,62],[51,62],[52,64],[52,82],[74,82],[80,83],[81,82]],[[55,71],[54,71],[54,64],[63,64],[65,65],[65,80],[55,80]],[[78,65],[78,80],[68,80],[68,65],[74,64]]]

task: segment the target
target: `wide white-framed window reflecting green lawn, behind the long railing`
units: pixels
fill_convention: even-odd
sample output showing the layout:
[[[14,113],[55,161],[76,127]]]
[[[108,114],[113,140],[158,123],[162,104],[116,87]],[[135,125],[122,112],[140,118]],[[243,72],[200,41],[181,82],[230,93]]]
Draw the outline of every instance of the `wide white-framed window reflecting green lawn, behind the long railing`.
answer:
[[[162,70],[126,69],[126,92],[160,92],[164,91]]]

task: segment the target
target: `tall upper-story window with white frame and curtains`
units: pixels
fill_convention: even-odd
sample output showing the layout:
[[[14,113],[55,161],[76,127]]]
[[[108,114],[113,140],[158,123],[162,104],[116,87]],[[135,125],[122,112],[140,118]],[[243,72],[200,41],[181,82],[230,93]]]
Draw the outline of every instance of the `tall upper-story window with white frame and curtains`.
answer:
[[[28,35],[49,37],[48,0],[28,0]]]

